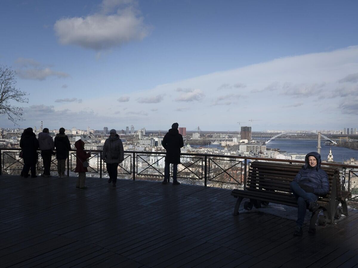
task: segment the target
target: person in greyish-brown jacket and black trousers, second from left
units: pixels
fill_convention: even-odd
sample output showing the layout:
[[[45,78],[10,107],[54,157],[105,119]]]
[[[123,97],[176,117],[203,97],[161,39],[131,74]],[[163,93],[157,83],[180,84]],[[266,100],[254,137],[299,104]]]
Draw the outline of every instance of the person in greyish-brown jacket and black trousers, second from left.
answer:
[[[41,150],[42,161],[44,164],[44,172],[41,174],[41,176],[49,178],[51,177],[51,158],[53,150],[55,150],[55,144],[53,142],[53,138],[50,136],[50,131],[48,128],[44,128],[43,131],[39,133],[38,141]]]

